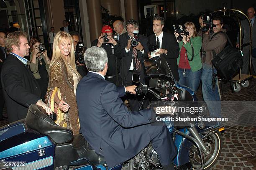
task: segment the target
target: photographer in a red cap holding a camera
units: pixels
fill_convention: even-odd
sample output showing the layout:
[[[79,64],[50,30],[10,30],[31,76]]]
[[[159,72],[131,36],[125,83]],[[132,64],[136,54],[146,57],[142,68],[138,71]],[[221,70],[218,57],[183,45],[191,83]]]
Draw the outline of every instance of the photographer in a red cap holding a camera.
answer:
[[[109,25],[104,25],[102,27],[99,38],[92,41],[92,46],[102,47],[107,51],[108,72],[105,75],[105,79],[116,86],[120,86],[120,55],[117,55],[118,51],[120,51],[120,46],[117,43],[117,36],[113,38],[113,30]]]

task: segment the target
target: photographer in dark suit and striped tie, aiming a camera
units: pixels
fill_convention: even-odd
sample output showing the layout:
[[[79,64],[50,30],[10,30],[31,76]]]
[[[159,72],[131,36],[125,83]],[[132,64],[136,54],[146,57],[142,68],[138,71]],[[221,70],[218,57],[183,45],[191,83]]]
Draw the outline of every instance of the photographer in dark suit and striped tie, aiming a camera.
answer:
[[[132,75],[137,73],[140,75],[141,80],[145,77],[145,70],[143,61],[145,58],[148,58],[148,46],[147,41],[148,38],[138,34],[138,45],[131,46],[131,41],[134,39],[134,31],[138,32],[138,22],[136,20],[128,20],[126,22],[127,33],[123,33],[119,37],[120,43],[120,57],[121,66],[120,66],[120,76],[123,80],[124,86],[130,86],[133,84]],[[141,100],[143,96],[134,96],[127,95],[127,99],[129,102],[130,109],[133,111],[138,110],[141,107]]]

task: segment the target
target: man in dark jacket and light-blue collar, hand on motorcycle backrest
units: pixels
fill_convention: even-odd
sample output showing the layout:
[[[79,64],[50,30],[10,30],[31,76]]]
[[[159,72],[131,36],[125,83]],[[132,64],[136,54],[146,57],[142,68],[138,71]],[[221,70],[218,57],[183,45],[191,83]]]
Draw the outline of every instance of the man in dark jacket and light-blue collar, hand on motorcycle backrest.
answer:
[[[26,66],[29,55],[27,34],[15,31],[6,38],[8,56],[3,63],[1,83],[7,107],[9,123],[24,119],[31,104],[43,107],[48,114],[51,109],[40,99],[41,91],[32,72]]]

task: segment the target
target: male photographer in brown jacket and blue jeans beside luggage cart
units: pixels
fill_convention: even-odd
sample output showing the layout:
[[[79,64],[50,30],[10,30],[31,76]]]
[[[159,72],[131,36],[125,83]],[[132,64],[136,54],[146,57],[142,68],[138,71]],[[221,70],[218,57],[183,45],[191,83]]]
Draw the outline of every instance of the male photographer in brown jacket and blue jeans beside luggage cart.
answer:
[[[206,18],[209,18],[206,16]],[[212,65],[212,59],[220,53],[227,43],[227,35],[222,29],[223,19],[219,16],[212,18],[211,25],[207,24],[202,28],[202,94],[209,108],[211,117],[221,117],[220,115],[220,95],[217,86],[217,71]],[[208,28],[205,32],[204,28]]]

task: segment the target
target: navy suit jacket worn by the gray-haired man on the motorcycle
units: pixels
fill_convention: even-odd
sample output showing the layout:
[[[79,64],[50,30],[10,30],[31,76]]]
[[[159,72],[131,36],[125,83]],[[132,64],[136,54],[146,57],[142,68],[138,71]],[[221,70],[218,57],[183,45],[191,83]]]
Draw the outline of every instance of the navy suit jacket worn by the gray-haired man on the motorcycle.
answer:
[[[108,167],[130,159],[148,145],[150,136],[146,128],[139,125],[151,123],[156,117],[151,109],[128,111],[120,99],[124,94],[124,87],[117,88],[92,72],[77,85],[82,134],[95,152],[102,149]]]

